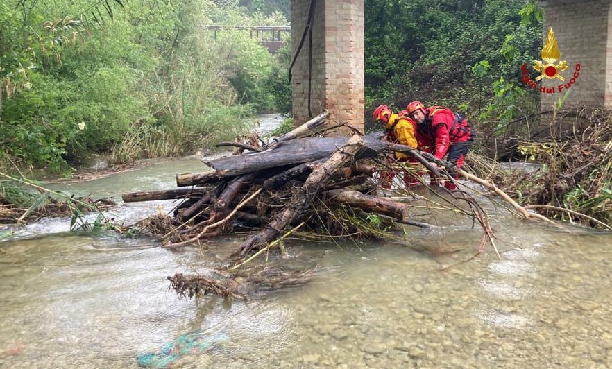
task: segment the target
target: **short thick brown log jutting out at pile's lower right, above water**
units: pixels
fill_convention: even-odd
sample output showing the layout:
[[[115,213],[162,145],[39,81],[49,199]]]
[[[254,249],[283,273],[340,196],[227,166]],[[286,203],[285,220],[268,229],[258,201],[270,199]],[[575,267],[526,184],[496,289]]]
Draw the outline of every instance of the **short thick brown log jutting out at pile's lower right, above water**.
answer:
[[[366,212],[391,216],[400,221],[405,220],[407,216],[407,205],[405,204],[396,203],[386,198],[362,194],[352,189],[333,189],[326,191],[324,196],[326,200],[330,200],[333,203],[346,204]]]

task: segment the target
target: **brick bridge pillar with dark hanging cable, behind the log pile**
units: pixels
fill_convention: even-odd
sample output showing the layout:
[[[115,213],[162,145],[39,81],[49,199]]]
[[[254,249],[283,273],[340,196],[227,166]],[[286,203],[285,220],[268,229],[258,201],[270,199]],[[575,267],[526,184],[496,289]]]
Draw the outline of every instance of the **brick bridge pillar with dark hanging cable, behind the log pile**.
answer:
[[[291,47],[295,55],[310,1],[291,0]],[[317,0],[312,32],[312,80],[308,112],[309,40],[292,69],[297,126],[327,109],[334,122],[364,129],[364,0]]]

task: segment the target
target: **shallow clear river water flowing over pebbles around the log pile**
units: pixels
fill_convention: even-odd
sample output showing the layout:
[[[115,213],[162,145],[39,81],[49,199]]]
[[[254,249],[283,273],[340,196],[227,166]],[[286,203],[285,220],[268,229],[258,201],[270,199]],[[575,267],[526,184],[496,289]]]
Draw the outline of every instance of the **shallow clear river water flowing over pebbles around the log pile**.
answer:
[[[119,200],[203,170],[187,158],[54,186]],[[170,251],[146,237],[67,232],[67,219],[27,225],[0,243],[0,367],[612,366],[612,234],[520,221],[479,200],[501,259],[488,246],[442,271],[473,255],[481,232],[430,209],[422,219],[441,229],[407,227],[396,241],[289,241],[289,258],[268,262],[318,266],[313,280],[232,304],[180,300],[166,277],[220,266],[240,236]],[[110,214],[131,223],[172,207],[121,203]]]

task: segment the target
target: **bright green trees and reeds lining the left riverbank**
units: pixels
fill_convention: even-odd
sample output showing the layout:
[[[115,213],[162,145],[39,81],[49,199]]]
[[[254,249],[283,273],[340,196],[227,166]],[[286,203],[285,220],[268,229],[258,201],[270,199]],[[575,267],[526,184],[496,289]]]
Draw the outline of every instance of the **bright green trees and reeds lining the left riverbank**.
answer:
[[[273,92],[287,92],[288,52],[248,31],[215,40],[213,24],[287,18],[237,0],[0,0],[0,170],[183,155],[244,133],[255,112],[287,111]]]

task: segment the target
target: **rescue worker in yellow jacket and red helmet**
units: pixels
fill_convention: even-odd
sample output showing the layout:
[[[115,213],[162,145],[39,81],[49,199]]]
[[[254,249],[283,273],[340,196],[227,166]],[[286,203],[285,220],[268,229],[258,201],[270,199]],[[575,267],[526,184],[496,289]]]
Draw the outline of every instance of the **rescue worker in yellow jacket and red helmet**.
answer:
[[[411,148],[417,148],[418,142],[416,141],[416,123],[406,115],[396,114],[387,105],[380,105],[374,110],[374,121],[382,123],[386,130],[386,139],[393,144],[400,144],[410,146]],[[398,162],[414,162],[414,160],[407,154],[395,153],[395,159]],[[382,173],[380,180],[382,187],[386,189],[391,188],[393,183],[394,173],[388,171]],[[407,186],[416,185],[420,182],[414,178],[414,175],[404,173],[404,182]]]

